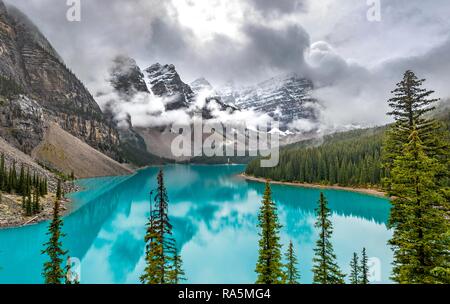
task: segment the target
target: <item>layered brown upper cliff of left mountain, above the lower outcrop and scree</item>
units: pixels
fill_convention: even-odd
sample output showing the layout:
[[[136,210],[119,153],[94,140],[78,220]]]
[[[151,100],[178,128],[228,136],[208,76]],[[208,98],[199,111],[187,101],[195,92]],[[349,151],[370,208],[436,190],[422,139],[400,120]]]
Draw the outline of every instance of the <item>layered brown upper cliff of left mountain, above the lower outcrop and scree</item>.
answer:
[[[6,8],[1,0],[0,75],[20,86],[23,95],[41,107],[45,120],[57,122],[90,146],[115,159],[121,158],[115,126],[105,119],[83,83],[32,22],[17,9]],[[13,142],[28,151],[38,139],[19,137]]]

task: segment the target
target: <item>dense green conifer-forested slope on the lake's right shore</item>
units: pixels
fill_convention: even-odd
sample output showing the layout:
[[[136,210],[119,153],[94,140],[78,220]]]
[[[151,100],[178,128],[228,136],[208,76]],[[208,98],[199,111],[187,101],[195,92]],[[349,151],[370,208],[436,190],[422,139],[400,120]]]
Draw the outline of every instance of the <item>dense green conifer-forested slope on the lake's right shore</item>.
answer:
[[[450,110],[434,114],[450,130]],[[308,140],[283,148],[279,165],[261,168],[250,162],[246,174],[277,181],[377,187],[383,178],[381,146],[387,127],[354,130]]]

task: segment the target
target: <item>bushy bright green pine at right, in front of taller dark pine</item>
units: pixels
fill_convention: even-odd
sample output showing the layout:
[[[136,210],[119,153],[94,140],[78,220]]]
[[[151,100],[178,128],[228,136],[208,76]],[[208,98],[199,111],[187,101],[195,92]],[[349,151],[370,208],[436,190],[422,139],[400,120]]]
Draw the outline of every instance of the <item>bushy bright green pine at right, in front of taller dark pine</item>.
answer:
[[[394,228],[390,245],[394,251],[392,279],[398,283],[450,283],[434,272],[450,269],[449,201],[437,182],[445,165],[425,153],[419,132],[413,129],[403,155],[391,172]]]

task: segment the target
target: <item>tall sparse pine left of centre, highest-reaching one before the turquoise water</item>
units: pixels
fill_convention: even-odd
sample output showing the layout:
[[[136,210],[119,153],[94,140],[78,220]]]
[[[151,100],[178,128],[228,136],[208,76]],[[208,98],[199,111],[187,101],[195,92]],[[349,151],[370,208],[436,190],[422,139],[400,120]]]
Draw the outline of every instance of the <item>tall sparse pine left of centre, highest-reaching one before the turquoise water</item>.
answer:
[[[169,202],[162,170],[159,171],[157,180],[155,210],[150,212],[145,236],[146,267],[141,276],[141,282],[144,284],[170,283],[170,270],[174,262],[173,252],[176,248],[168,216]]]

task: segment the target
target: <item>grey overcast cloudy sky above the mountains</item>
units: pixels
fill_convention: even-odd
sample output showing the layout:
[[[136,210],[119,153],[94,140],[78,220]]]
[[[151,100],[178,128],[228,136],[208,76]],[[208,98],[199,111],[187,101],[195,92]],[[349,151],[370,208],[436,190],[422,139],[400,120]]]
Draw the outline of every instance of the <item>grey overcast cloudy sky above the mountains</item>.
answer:
[[[81,22],[67,21],[66,1],[9,3],[93,94],[112,57],[126,54],[213,85],[297,72],[314,80],[332,123],[385,122],[386,98],[406,69],[450,96],[448,0],[381,0],[380,22],[368,21],[366,0],[81,0]]]

